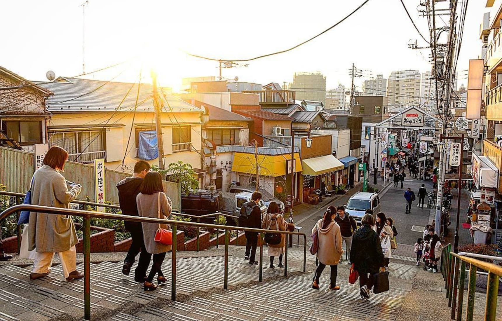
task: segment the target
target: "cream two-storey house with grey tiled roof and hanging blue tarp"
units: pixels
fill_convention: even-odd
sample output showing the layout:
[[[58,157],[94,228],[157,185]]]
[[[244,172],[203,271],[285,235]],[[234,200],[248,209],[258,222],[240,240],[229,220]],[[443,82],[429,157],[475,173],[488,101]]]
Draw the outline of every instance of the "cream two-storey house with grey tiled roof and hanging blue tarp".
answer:
[[[54,93],[49,145],[64,147],[71,161],[104,158],[106,167],[129,172],[140,157],[158,165],[152,85],[59,78],[40,86]],[[177,161],[200,168],[202,110],[169,88],[158,91],[166,168]]]

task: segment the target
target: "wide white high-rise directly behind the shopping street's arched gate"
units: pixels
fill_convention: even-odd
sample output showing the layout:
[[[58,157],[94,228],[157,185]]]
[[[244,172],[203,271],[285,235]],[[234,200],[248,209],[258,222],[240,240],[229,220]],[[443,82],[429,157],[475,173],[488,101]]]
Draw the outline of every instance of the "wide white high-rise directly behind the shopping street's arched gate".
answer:
[[[393,71],[387,81],[389,105],[419,105],[420,78],[418,70]]]

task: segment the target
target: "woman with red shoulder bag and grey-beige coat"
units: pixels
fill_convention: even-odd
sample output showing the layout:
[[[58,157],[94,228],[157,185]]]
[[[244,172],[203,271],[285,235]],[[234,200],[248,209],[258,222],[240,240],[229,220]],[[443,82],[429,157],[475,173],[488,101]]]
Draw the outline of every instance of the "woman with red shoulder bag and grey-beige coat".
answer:
[[[168,219],[171,214],[171,200],[164,194],[162,177],[157,172],[149,172],[140,187],[140,194],[136,197],[138,204],[138,214],[141,217]],[[155,274],[157,283],[167,282],[161,271],[162,262],[166,257],[166,252],[172,249],[171,228],[167,224],[141,223],[143,226],[143,239],[148,253],[153,254],[153,264],[148,274],[144,288],[155,290],[157,285],[153,283]]]

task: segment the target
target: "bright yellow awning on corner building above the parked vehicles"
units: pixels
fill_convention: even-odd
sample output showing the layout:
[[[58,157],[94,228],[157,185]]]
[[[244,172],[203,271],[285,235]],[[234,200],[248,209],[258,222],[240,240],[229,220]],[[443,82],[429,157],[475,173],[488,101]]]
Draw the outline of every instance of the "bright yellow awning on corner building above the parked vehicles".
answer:
[[[263,176],[285,176],[286,160],[291,159],[291,154],[282,155],[258,155],[260,175]],[[300,154],[295,153],[295,173],[302,172],[302,161]],[[232,172],[256,175],[256,159],[254,154],[236,152],[233,155]]]

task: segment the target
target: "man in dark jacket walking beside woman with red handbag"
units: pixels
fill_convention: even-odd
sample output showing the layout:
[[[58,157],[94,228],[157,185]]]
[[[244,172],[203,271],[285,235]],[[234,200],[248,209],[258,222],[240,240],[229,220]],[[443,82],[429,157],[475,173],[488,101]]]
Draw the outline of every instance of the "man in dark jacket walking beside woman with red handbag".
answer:
[[[148,162],[138,161],[134,166],[133,176],[118,182],[118,202],[123,215],[139,216],[138,206],[136,204],[136,196],[140,194],[140,186],[143,183],[145,175],[147,175],[149,171],[150,164],[148,164]],[[137,282],[143,282],[145,280],[148,265],[150,265],[152,254],[148,253],[145,247],[145,242],[143,241],[143,227],[141,226],[141,222],[126,221],[124,225],[126,226],[126,229],[131,233],[133,242],[131,243],[131,247],[129,248],[126,259],[124,259],[122,273],[129,275],[136,255],[138,255],[141,250],[140,259],[138,261],[138,267],[135,270],[134,279]]]

